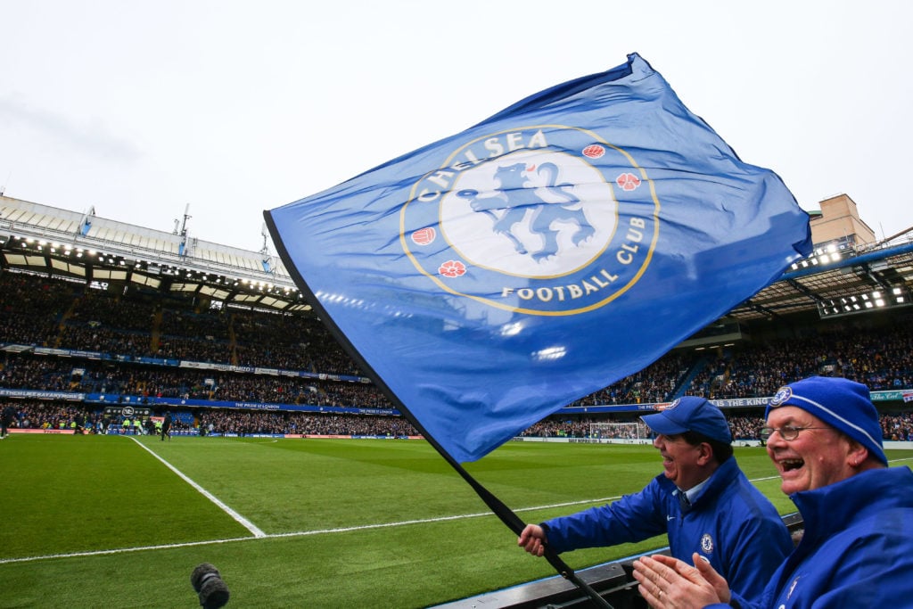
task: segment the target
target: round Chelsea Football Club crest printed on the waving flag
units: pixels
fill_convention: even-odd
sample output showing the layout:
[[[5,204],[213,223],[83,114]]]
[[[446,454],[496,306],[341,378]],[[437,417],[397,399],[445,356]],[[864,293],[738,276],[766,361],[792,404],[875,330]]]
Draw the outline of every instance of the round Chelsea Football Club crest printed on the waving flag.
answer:
[[[400,242],[447,292],[569,315],[635,285],[658,214],[653,185],[627,152],[592,131],[530,126],[468,142],[416,182]]]

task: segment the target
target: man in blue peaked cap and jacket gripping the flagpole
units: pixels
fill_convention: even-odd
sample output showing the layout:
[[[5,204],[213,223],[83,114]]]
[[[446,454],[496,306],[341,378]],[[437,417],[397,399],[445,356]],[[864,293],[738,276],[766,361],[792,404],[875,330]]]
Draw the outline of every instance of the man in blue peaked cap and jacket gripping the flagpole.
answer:
[[[541,556],[543,543],[562,552],[667,533],[672,556],[690,560],[698,552],[747,597],[760,595],[792,540],[732,457],[726,417],[704,398],[686,396],[642,419],[656,434],[663,473],[614,503],[527,525],[518,545]]]

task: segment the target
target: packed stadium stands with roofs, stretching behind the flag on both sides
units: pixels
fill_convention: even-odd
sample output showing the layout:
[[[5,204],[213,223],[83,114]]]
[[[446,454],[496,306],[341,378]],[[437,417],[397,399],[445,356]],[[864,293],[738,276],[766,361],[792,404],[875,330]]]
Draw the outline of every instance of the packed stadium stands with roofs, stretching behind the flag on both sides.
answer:
[[[19,408],[17,425],[67,430],[80,413],[92,431],[107,415],[113,431],[168,409],[176,433],[415,436],[266,246],[0,205],[0,403]],[[778,387],[825,374],[866,383],[886,439],[908,440],[913,242],[857,237],[819,244],[723,320],[522,436],[585,437],[696,394],[752,439]],[[879,291],[888,306],[856,306]]]

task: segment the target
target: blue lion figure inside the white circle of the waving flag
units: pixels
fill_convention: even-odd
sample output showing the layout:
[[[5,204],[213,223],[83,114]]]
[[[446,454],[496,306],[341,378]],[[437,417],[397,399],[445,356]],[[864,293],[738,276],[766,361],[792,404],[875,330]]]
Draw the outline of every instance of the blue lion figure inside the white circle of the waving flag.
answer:
[[[576,225],[572,236],[574,246],[580,246],[596,232],[587,219],[580,203],[574,194],[568,191],[572,184],[558,184],[558,165],[555,163],[542,163],[537,175],[544,179],[545,188],[555,203],[544,200],[530,187],[524,174],[535,170],[535,166],[527,167],[524,163],[514,163],[499,166],[495,170],[496,191],[493,196],[478,196],[477,190],[461,190],[457,196],[467,199],[473,211],[489,215],[492,221],[492,231],[498,235],[507,236],[519,254],[529,253],[528,248],[514,234],[516,226],[531,212],[529,226],[530,232],[542,238],[542,247],[530,256],[542,260],[558,254],[559,231],[551,225],[556,221],[571,222]],[[503,211],[498,215],[496,211]]]

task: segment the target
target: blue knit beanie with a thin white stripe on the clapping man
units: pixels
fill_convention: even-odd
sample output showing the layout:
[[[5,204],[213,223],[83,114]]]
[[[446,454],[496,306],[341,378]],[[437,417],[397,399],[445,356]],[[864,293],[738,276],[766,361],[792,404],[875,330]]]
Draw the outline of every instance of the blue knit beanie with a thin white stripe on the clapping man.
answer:
[[[781,387],[767,404],[764,418],[781,406],[796,406],[817,416],[866,446],[869,454],[887,465],[878,411],[866,385],[840,377],[812,376]]]

